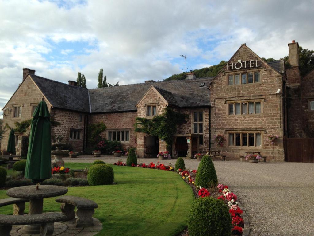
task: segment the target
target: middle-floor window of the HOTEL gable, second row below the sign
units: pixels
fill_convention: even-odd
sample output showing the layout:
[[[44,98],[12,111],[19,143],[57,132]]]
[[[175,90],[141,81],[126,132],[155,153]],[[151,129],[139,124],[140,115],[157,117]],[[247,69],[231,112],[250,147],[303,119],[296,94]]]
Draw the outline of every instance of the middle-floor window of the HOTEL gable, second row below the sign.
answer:
[[[252,115],[262,113],[262,102],[228,102],[228,115]]]

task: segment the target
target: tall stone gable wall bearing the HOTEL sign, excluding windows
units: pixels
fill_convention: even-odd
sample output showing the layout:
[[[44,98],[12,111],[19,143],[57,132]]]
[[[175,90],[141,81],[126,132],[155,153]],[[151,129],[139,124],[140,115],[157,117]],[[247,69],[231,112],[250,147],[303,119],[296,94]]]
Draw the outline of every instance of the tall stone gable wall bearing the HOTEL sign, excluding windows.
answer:
[[[221,154],[228,158],[245,156],[245,152],[261,152],[262,156],[268,156],[267,160],[284,160],[283,148],[283,99],[276,95],[276,91],[282,88],[282,76],[267,63],[258,58],[245,45],[236,52],[229,63],[238,61],[256,60],[260,67],[240,70],[227,70],[225,66],[210,86],[211,100],[211,141],[214,142],[215,134],[222,134],[226,139],[228,132],[260,132],[262,134],[261,147],[254,146],[228,146],[221,148]],[[228,86],[228,74],[260,71],[261,82]],[[261,114],[252,115],[228,115],[228,101],[246,102],[260,101]],[[275,145],[268,141],[268,135],[279,135]],[[212,149],[219,149],[215,144]]]

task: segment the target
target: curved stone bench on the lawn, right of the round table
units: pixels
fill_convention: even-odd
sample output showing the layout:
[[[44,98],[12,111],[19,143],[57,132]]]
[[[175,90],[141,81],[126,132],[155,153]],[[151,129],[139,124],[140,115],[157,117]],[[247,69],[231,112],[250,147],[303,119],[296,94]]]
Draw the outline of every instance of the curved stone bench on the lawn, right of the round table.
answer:
[[[56,202],[60,202],[61,211],[68,217],[68,220],[75,217],[74,208],[77,208],[76,216],[76,227],[92,227],[94,226],[93,215],[95,208],[98,205],[89,199],[75,197],[75,196],[62,196],[56,199]]]

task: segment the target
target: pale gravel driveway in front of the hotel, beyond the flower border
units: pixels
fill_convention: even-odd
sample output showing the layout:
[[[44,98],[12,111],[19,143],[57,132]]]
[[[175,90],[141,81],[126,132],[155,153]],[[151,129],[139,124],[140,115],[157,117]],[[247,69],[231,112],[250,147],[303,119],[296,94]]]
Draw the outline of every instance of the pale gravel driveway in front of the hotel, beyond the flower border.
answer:
[[[119,159],[102,156],[106,163]],[[65,162],[92,162],[91,155]],[[138,159],[149,164],[155,159]],[[162,160],[163,164],[176,163]],[[197,169],[199,161],[185,160],[188,169]],[[250,236],[314,235],[314,164],[276,162],[251,164],[240,161],[214,161],[219,183],[224,183],[239,196],[250,219]]]

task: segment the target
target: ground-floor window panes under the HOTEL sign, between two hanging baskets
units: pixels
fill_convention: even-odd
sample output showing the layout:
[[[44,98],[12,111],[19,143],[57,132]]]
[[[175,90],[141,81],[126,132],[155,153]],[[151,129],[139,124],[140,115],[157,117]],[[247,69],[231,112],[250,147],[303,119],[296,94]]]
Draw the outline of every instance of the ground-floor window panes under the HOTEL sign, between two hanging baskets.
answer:
[[[228,132],[228,146],[260,147],[262,146],[261,132],[237,131]]]

